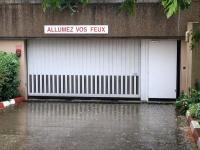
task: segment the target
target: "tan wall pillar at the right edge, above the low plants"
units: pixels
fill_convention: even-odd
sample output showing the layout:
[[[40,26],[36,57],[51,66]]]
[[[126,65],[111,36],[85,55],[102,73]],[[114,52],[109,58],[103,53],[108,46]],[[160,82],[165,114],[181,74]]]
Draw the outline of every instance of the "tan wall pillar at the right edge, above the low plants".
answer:
[[[200,85],[200,44],[197,44],[195,49],[191,47],[192,31],[197,28],[200,28],[200,23],[188,23],[187,42],[182,42],[181,45],[181,90],[185,92],[187,92],[189,88],[195,88],[196,83]],[[183,70],[183,66],[186,66],[186,70]]]

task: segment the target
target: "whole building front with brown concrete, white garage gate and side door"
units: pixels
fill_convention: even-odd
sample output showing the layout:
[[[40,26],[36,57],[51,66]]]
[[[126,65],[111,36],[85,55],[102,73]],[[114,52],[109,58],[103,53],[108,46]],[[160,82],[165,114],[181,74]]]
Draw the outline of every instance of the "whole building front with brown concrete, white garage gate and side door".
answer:
[[[148,101],[175,99],[192,86],[185,39],[200,2],[170,19],[157,0],[139,1],[133,16],[118,13],[120,1],[92,1],[73,15],[43,12],[40,2],[0,3],[0,49],[21,50],[22,95]],[[106,25],[108,34],[45,34],[45,25]]]

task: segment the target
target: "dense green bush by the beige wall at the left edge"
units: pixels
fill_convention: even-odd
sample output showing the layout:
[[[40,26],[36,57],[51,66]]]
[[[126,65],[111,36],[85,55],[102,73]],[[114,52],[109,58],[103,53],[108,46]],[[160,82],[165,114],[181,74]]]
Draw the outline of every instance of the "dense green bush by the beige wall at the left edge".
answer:
[[[19,60],[15,54],[0,52],[0,100],[17,96]]]

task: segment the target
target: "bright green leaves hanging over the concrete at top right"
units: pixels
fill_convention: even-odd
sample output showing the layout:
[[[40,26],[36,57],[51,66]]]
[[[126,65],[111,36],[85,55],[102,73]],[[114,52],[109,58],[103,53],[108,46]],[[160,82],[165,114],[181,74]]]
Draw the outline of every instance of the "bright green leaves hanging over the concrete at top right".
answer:
[[[184,10],[189,8],[191,3],[192,0],[161,0],[167,18],[176,14],[179,9]]]

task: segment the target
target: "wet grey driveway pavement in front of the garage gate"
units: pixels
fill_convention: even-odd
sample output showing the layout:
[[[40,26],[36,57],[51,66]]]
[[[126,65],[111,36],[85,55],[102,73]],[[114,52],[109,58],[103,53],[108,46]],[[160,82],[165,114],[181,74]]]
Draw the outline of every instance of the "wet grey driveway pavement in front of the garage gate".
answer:
[[[184,150],[174,105],[24,103],[0,111],[0,150]]]

